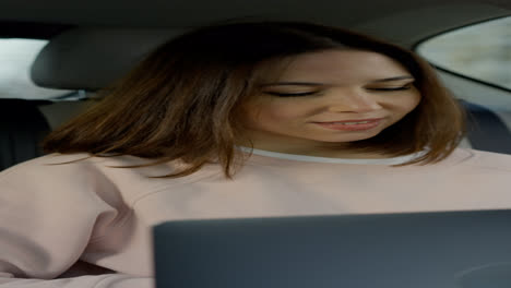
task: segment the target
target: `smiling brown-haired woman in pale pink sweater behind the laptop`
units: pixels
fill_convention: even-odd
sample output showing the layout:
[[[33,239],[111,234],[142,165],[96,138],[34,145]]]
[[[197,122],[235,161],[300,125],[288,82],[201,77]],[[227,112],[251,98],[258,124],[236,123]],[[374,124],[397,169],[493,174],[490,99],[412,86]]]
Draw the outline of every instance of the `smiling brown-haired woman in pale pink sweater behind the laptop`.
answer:
[[[105,94],[0,175],[0,284],[152,287],[171,219],[511,206],[511,158],[456,148],[465,113],[428,63],[357,33],[210,25]]]

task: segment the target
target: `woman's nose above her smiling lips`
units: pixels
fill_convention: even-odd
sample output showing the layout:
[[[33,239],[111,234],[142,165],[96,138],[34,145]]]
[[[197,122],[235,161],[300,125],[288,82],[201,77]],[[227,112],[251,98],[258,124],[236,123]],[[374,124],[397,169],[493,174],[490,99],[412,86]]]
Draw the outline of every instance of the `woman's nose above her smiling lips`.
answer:
[[[373,95],[364,92],[341,92],[329,99],[330,112],[368,112],[381,109],[381,105]]]

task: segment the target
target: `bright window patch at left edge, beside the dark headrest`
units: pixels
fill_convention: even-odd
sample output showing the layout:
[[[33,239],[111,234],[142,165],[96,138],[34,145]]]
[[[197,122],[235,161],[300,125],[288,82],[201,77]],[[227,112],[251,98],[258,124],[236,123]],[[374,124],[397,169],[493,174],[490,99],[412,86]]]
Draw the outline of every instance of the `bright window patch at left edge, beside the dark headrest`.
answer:
[[[32,62],[46,44],[39,39],[0,39],[0,98],[47,99],[70,92],[41,88],[32,82]]]

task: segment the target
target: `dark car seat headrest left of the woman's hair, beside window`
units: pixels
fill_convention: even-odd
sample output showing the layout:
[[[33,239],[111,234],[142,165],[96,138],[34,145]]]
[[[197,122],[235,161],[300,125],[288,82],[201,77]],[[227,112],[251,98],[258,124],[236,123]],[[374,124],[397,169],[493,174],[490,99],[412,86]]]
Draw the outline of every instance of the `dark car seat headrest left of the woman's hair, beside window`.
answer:
[[[31,77],[36,85],[47,88],[97,91],[180,34],[171,29],[69,29],[41,49],[32,65]]]

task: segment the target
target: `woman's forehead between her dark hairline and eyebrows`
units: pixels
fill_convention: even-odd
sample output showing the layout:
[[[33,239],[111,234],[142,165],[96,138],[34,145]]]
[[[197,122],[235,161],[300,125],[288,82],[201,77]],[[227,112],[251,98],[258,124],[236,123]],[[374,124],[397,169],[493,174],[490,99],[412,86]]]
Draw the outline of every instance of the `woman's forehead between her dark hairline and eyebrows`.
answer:
[[[411,75],[399,61],[373,51],[328,50],[294,57],[281,70],[278,81],[343,84],[397,75]]]

